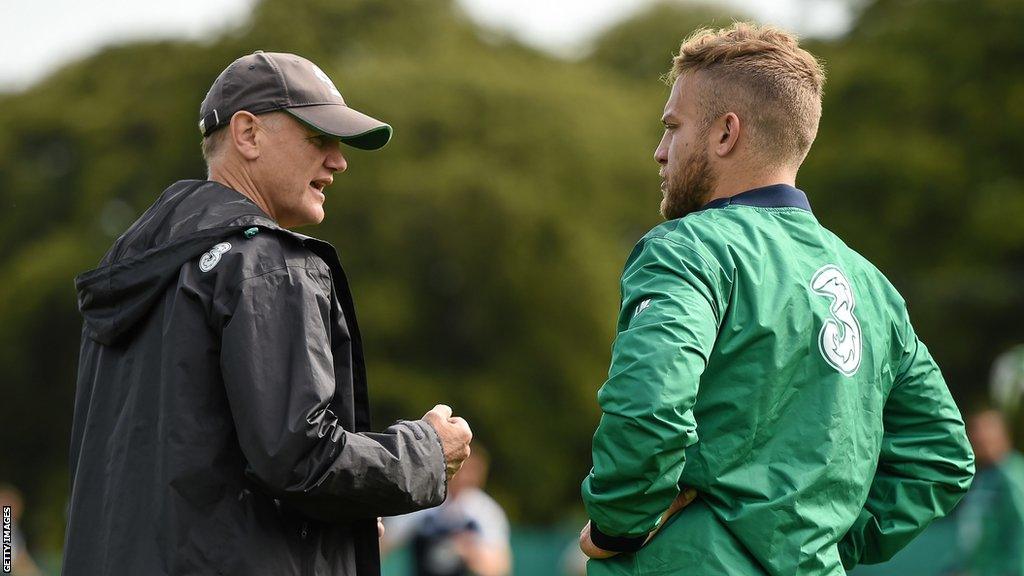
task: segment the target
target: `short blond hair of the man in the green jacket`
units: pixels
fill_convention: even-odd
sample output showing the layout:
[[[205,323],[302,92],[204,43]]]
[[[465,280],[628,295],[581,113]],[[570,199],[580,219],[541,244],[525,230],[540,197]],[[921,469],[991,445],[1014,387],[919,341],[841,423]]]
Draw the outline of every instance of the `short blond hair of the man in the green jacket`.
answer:
[[[672,84],[690,73],[702,81],[705,130],[733,112],[766,162],[796,167],[807,157],[821,119],[825,75],[794,35],[748,23],[697,30],[679,47],[666,80]]]

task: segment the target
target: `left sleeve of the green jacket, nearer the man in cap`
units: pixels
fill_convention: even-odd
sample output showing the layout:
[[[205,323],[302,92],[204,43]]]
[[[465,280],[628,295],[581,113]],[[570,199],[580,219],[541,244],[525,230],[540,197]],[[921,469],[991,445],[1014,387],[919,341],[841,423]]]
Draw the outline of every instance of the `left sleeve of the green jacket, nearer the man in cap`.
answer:
[[[718,331],[713,291],[691,248],[654,239],[634,254],[583,483],[591,538],[612,551],[638,549],[679,494],[684,449],[696,442],[697,385]]]

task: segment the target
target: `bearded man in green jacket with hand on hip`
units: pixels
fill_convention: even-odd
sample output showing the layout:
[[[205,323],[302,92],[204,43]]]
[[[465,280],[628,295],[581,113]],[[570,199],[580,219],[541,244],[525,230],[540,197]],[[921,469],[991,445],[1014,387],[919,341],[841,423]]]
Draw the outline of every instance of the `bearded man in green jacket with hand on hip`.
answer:
[[[583,483],[589,573],[884,561],[956,504],[974,457],[903,299],[795,188],[820,64],[736,24],[685,41],[670,80],[668,221],[623,273]]]

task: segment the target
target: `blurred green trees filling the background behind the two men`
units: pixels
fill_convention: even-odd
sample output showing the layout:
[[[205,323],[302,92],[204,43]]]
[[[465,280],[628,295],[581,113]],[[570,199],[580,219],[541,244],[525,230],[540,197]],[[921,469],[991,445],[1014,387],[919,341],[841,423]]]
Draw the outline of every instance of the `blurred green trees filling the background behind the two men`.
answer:
[[[73,278],[169,183],[202,177],[199,104],[254,49],[317,61],[393,141],[351,151],[326,222],[367,339],[378,427],[447,402],[519,522],[579,504],[617,276],[657,222],[657,80],[713,9],[663,4],[583,61],[476,29],[452,0],[264,0],[213,43],[136,43],[0,96],[3,479],[58,547],[80,319]],[[1020,338],[1024,7],[881,0],[814,45],[829,73],[801,172],[886,272],[961,396]]]

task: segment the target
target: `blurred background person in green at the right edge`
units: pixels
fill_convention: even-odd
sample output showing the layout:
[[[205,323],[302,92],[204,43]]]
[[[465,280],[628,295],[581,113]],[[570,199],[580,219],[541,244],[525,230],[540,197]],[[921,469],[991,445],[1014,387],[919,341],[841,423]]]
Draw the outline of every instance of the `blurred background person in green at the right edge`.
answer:
[[[969,415],[967,433],[978,471],[955,516],[957,553],[949,574],[1024,576],[1024,456],[993,408]]]

